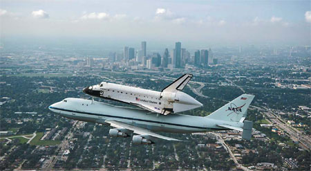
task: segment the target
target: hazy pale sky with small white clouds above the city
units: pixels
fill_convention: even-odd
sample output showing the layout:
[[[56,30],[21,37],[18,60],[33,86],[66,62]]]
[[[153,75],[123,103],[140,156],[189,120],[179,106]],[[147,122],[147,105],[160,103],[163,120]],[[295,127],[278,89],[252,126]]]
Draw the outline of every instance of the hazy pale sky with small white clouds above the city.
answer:
[[[310,46],[310,1],[0,0],[1,38]]]

